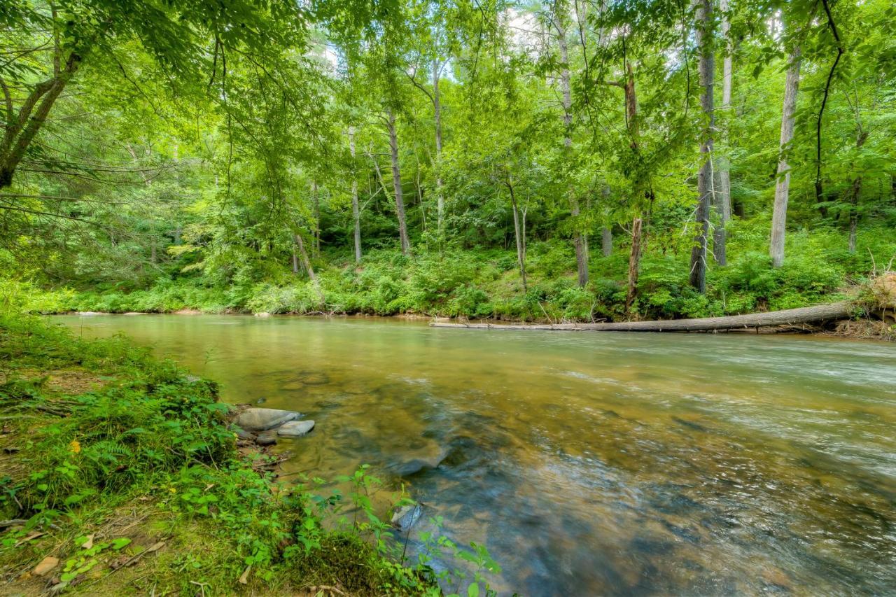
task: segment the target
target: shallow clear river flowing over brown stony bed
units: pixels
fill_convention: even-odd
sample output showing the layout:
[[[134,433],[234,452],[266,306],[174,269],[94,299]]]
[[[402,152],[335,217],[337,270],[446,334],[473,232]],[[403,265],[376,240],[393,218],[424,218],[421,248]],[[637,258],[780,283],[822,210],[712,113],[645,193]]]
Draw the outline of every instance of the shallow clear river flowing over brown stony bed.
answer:
[[[896,594],[896,346],[375,318],[61,316],[301,411],[530,595]],[[289,474],[285,476],[289,479]],[[419,527],[419,528],[418,528]],[[420,523],[412,531],[426,529]]]

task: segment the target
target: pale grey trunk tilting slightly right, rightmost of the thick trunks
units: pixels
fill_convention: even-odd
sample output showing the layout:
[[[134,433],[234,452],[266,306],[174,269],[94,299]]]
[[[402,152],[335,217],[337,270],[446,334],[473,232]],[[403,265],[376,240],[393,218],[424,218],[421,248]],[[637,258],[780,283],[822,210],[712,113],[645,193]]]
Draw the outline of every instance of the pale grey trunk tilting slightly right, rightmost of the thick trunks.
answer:
[[[802,55],[799,46],[790,52],[790,65],[784,83],[784,108],[781,114],[781,135],[778,156],[778,178],[775,182],[775,203],[771,214],[771,244],[769,253],[771,265],[780,267],[784,263],[784,239],[787,230],[787,203],[790,192],[790,167],[787,154],[793,141],[794,115],[797,112],[797,91],[799,90],[799,66]]]

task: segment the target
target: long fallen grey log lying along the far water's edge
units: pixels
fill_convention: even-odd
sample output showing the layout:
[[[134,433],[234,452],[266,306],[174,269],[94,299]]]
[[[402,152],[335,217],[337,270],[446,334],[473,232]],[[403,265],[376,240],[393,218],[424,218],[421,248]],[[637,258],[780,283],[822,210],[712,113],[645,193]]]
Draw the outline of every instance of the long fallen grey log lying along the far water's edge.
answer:
[[[701,319],[668,319],[661,321],[629,321],[613,324],[442,324],[433,327],[467,327],[490,330],[561,330],[567,332],[711,332],[766,327],[769,325],[809,324],[844,319],[852,315],[854,306],[849,300],[830,305],[784,309],[768,313],[741,316],[702,317]]]

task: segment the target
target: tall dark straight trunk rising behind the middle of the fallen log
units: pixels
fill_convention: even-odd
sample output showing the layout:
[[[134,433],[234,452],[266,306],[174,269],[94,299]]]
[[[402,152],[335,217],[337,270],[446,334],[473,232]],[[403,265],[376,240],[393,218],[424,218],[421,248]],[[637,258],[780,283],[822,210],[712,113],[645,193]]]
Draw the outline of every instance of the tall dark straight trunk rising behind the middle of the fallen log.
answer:
[[[712,0],[698,0],[697,9],[697,44],[700,47],[700,84],[703,94],[700,103],[703,127],[700,153],[703,164],[697,174],[697,192],[700,201],[694,221],[697,225],[697,236],[691,251],[691,285],[701,294],[706,291],[706,245],[710,231],[710,203],[712,200],[712,137],[715,127],[712,90],[715,79],[715,57],[712,39]]]

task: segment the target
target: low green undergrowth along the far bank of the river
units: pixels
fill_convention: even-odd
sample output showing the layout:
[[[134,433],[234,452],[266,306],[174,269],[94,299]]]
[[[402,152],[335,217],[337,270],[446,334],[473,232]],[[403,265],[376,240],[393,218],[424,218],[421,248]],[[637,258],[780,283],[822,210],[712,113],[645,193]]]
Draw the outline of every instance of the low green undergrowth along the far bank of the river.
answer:
[[[788,260],[772,268],[762,222],[732,230],[729,264],[713,265],[705,295],[688,285],[687,255],[653,250],[642,260],[632,316],[640,319],[725,316],[842,299],[842,290],[865,281],[896,255],[892,235],[868,230],[862,250],[849,253],[837,230],[798,231],[789,237]],[[406,257],[392,250],[368,252],[361,264],[350,255],[324,251],[313,260],[320,290],[289,264],[235,263],[205,271],[170,262],[157,275],[110,284],[48,288],[28,281],[0,282],[0,301],[36,313],[68,311],[363,313],[460,316],[513,321],[620,320],[625,314],[628,255],[619,247],[604,257],[592,251],[590,281],[575,283],[573,249],[567,242],[532,242],[523,288],[512,251],[419,250]],[[680,254],[680,255],[679,255]],[[187,271],[185,273],[185,270]],[[323,294],[323,300],[321,299]]]

